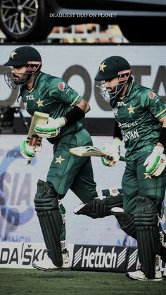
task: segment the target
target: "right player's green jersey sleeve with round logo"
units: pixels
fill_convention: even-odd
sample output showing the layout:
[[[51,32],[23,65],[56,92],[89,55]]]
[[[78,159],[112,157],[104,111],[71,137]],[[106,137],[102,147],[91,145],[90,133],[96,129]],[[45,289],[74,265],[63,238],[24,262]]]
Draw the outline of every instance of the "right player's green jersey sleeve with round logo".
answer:
[[[156,94],[151,89],[146,89],[146,91],[141,95],[141,104],[146,107],[155,118],[158,120],[162,119],[166,115],[166,106],[162,102],[162,99],[158,94]]]

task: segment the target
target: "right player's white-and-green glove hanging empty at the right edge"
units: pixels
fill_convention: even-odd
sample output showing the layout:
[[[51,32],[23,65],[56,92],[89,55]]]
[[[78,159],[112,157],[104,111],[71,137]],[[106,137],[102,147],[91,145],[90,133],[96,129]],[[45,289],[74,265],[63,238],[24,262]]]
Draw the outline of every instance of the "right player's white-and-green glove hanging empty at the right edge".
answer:
[[[159,176],[166,166],[166,155],[163,153],[162,146],[155,146],[151,155],[148,156],[143,166],[146,166],[146,172],[149,175]]]

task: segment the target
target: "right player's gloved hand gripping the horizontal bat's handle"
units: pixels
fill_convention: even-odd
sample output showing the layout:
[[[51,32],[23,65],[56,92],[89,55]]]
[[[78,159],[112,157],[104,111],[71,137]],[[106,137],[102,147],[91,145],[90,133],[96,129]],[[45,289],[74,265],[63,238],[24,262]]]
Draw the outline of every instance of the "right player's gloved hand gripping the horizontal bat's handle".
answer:
[[[108,167],[115,166],[115,163],[120,159],[120,139],[113,139],[113,144],[105,144],[101,150],[109,153],[110,156],[101,157],[103,165]]]

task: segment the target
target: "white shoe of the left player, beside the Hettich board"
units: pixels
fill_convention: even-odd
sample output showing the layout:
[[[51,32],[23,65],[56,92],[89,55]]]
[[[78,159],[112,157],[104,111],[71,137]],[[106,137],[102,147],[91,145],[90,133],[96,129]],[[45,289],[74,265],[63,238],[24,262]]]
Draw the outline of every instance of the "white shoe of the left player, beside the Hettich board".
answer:
[[[34,268],[37,268],[37,270],[44,270],[47,272],[54,272],[57,270],[70,270],[71,267],[70,267],[70,259],[68,257],[68,254],[67,253],[62,254],[62,256],[63,256],[62,266],[54,265],[48,255],[43,260],[32,263],[32,266]]]

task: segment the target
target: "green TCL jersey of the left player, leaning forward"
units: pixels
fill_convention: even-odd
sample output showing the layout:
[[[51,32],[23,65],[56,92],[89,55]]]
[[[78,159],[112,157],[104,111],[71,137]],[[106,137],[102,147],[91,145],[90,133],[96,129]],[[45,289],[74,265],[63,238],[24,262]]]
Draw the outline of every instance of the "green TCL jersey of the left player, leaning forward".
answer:
[[[49,113],[51,118],[60,118],[68,113],[82,99],[74,89],[58,77],[46,73],[39,73],[34,80],[34,87],[28,91],[24,85],[20,95],[25,109],[30,115],[34,111]],[[52,144],[68,133],[75,133],[82,129],[82,123],[76,122],[61,128],[57,137],[48,139]]]

